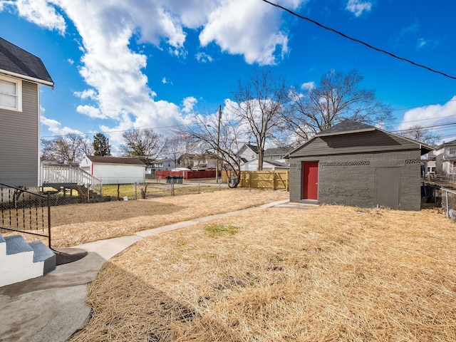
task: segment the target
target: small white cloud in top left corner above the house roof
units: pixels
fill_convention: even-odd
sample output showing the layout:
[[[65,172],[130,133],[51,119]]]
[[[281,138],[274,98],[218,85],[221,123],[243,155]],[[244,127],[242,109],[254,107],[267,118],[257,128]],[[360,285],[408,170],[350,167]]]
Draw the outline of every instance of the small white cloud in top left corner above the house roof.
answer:
[[[56,12],[56,9],[46,0],[17,0],[5,1],[6,4],[16,6],[19,16],[38,26],[56,30],[63,34],[66,30],[65,19],[61,14]],[[0,4],[0,11],[4,9],[3,4]]]

